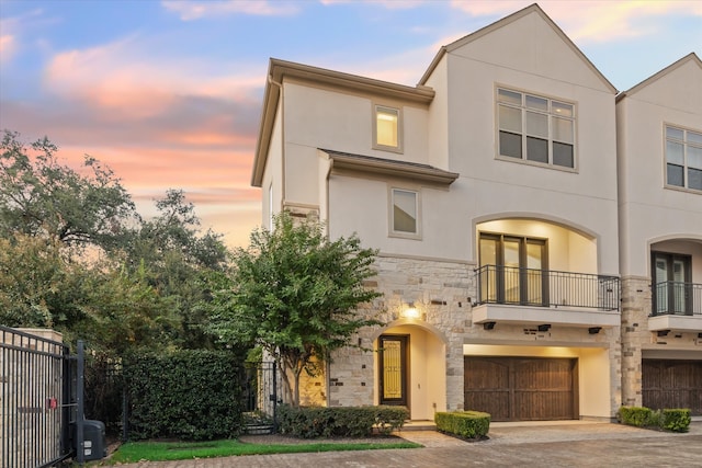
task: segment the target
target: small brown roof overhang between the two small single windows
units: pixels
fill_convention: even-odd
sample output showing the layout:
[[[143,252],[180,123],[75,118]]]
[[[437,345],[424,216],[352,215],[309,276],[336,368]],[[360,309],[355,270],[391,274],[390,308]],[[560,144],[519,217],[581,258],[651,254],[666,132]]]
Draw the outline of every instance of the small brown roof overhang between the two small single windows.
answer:
[[[335,151],[331,149],[319,148],[319,150],[329,157],[332,170],[350,170],[354,172],[393,175],[440,185],[451,185],[458,179],[456,172],[444,171],[443,169],[438,169],[429,164],[352,155],[350,152]]]

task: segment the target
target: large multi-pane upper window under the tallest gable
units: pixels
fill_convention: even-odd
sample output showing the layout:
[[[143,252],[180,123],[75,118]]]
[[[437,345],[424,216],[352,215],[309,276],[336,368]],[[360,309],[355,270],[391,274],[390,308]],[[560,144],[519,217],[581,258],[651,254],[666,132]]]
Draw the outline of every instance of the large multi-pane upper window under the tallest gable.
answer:
[[[575,105],[498,88],[499,156],[575,169]]]

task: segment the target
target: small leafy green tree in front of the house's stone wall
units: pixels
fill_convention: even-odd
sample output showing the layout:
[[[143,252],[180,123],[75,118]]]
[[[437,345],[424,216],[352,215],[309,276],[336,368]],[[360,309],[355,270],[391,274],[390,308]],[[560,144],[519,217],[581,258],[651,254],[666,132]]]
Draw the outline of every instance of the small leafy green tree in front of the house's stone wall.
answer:
[[[287,213],[274,225],[237,249],[228,281],[218,276],[210,328],[224,342],[258,344],[274,356],[298,406],[302,373],[315,375],[361,328],[380,324],[358,312],[381,296],[364,286],[375,275],[376,251],[355,235],[331,241],[321,224]]]

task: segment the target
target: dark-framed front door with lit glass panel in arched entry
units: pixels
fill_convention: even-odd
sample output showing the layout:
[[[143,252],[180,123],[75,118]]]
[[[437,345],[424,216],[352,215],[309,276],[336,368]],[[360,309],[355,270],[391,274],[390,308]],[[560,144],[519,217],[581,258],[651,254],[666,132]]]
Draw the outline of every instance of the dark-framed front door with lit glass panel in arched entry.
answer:
[[[378,339],[381,404],[407,407],[408,335],[384,334]]]

